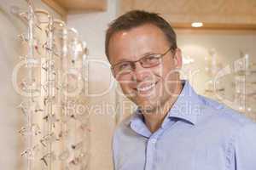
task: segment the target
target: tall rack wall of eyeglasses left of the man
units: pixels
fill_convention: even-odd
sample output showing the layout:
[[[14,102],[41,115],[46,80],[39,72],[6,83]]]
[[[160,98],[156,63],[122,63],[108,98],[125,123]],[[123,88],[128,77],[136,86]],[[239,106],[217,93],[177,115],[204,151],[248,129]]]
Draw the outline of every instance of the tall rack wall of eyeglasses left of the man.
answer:
[[[82,109],[86,43],[76,30],[27,1],[26,11],[13,8],[25,24],[17,41],[16,90],[24,123],[20,156],[27,170],[87,169],[90,159],[89,114]]]

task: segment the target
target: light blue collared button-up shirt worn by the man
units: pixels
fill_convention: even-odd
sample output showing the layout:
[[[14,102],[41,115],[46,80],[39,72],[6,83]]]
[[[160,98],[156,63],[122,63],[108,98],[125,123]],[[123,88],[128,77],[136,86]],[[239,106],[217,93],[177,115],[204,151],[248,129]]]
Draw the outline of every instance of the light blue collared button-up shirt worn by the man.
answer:
[[[185,81],[161,127],[137,111],[113,136],[115,170],[256,170],[256,124]]]

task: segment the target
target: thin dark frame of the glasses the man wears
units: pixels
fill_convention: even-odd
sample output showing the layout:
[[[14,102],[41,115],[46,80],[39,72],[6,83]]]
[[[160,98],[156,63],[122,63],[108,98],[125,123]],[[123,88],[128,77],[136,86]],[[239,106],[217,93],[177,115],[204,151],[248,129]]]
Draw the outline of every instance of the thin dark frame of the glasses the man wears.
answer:
[[[158,57],[155,57],[155,58],[156,58],[156,59],[162,59],[162,58],[163,58],[166,54],[168,54],[170,51],[174,52],[176,49],[177,49],[177,48],[173,48],[173,46],[171,46],[171,47],[168,48],[168,49],[166,50],[166,52],[163,53],[163,54],[154,54],[154,55],[158,55]],[[116,63],[116,64],[114,64],[114,65],[111,65],[111,71],[112,71],[114,77],[117,75],[117,74],[114,73],[114,66],[119,65],[119,64],[121,64],[121,63],[125,63],[125,62],[131,63],[131,64],[132,64],[132,70],[126,73],[126,74],[129,74],[129,73],[131,73],[132,71],[134,71],[134,70],[136,69],[135,64],[136,64],[137,62],[139,62],[140,65],[142,65],[142,59],[145,59],[145,58],[147,58],[147,57],[150,56],[150,55],[152,55],[152,54],[145,55],[145,56],[143,56],[142,58],[137,59],[137,60],[135,60],[135,61],[121,61],[121,62],[118,62],[118,63]],[[160,65],[160,63],[157,64],[157,65]],[[146,66],[146,67],[142,65],[142,67],[143,67],[143,68],[152,68],[152,67],[157,66],[157,65]],[[120,72],[120,71],[119,71],[119,72]],[[125,75],[126,75],[126,74],[125,74]]]

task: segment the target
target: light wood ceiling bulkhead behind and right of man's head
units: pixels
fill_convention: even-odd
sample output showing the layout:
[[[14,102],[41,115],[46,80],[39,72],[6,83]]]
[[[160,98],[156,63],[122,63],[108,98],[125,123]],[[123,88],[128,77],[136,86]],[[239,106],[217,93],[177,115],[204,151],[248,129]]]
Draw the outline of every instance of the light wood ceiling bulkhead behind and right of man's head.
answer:
[[[161,14],[173,27],[256,30],[256,0],[119,0],[119,14],[143,9]],[[206,3],[207,2],[207,3]]]

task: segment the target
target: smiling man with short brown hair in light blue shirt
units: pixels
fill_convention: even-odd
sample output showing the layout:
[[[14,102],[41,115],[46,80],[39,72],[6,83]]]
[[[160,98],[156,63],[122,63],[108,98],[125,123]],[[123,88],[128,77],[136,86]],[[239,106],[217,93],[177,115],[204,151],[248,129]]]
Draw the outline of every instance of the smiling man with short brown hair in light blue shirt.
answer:
[[[176,34],[134,10],[108,27],[113,76],[138,109],[113,136],[116,170],[256,170],[256,125],[180,80]]]

